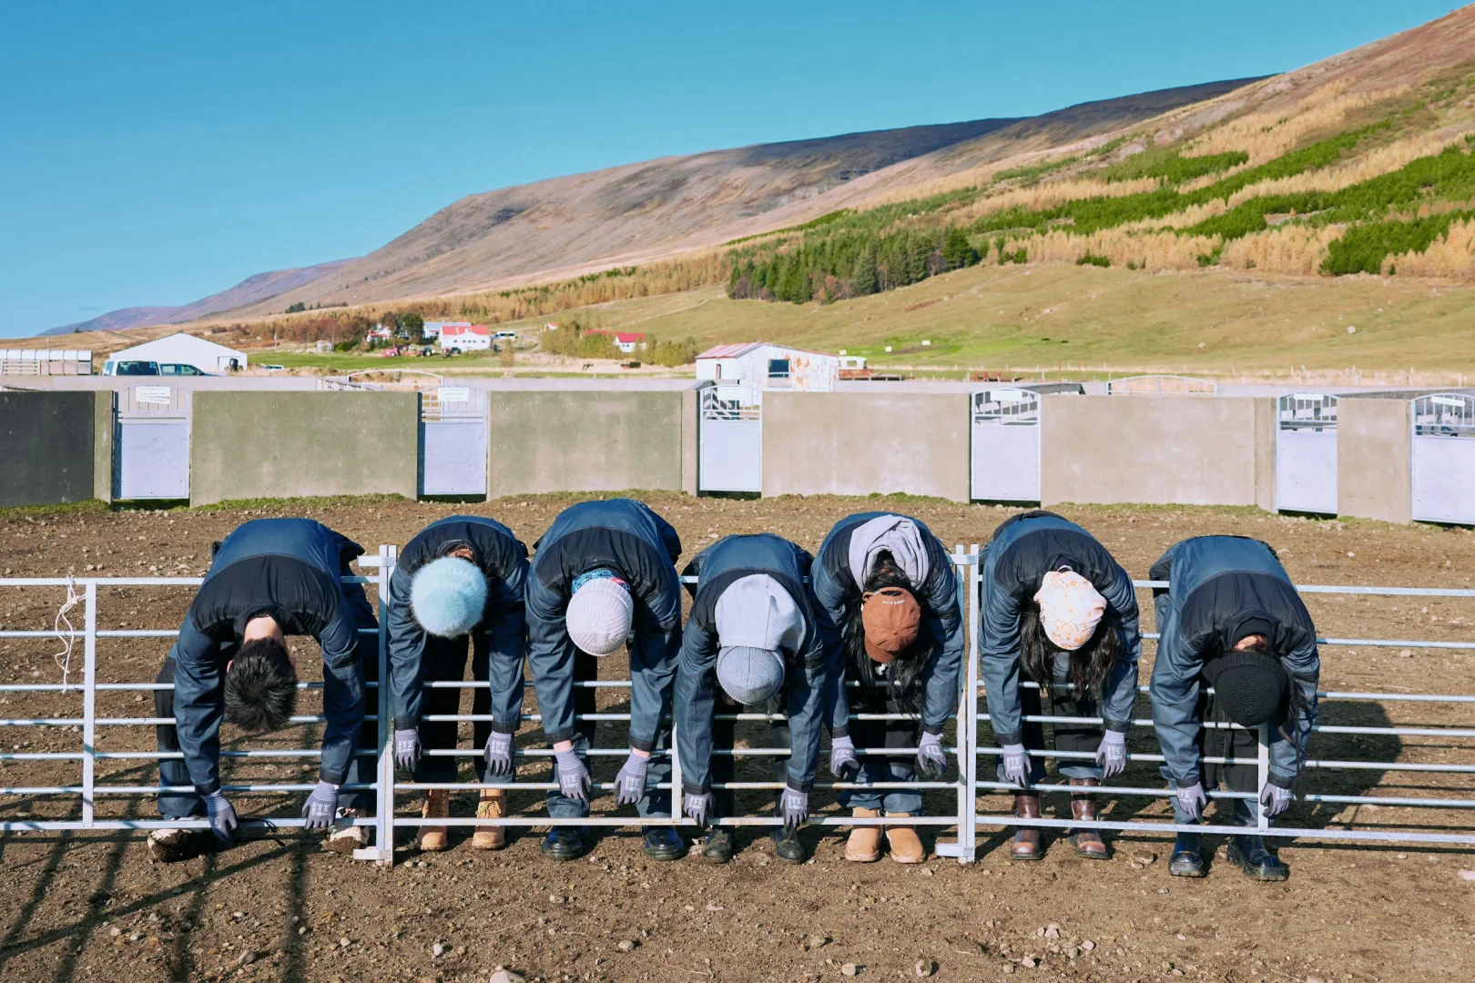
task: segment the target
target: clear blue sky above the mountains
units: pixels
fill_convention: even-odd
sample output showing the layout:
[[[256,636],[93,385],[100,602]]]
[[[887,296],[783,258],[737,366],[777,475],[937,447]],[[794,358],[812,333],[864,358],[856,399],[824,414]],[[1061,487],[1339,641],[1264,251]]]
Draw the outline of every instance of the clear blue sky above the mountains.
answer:
[[[462,195],[1314,62],[1450,0],[0,4],[0,336],[369,252]]]

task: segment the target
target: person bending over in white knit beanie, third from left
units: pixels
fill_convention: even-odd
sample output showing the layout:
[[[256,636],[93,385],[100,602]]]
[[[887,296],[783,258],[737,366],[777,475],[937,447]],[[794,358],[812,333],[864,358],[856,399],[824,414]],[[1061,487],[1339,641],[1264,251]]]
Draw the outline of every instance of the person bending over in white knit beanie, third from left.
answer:
[[[589,815],[593,787],[580,752],[594,738],[594,690],[575,682],[597,676],[597,659],[630,640],[630,756],[615,775],[615,800],[645,818],[668,818],[671,760],[665,716],[681,644],[681,584],[676,560],[681,541],[665,519],[630,498],[569,506],[534,547],[527,584],[528,665],[556,758],[558,790],[549,793],[555,819]],[[586,719],[575,724],[575,715]],[[658,752],[652,756],[653,752]],[[589,847],[584,831],[555,825],[544,856],[571,861]],[[671,827],[650,827],[645,852],[674,861],[686,842]]]

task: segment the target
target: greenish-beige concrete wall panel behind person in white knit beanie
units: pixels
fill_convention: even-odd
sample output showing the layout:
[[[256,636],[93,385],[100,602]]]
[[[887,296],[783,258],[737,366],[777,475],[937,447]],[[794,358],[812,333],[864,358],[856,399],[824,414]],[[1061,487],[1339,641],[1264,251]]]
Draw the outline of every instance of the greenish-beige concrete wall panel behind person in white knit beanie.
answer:
[[[681,391],[544,391],[487,396],[487,497],[625,489],[681,491],[687,396]],[[695,445],[690,448],[695,460]],[[695,488],[695,480],[690,482]]]

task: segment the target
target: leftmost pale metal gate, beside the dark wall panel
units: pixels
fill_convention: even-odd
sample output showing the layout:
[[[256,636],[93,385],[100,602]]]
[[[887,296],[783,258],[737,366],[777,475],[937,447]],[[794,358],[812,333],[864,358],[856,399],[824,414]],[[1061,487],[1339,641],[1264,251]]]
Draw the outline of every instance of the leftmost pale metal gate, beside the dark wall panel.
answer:
[[[128,386],[115,405],[112,497],[189,498],[190,391]]]

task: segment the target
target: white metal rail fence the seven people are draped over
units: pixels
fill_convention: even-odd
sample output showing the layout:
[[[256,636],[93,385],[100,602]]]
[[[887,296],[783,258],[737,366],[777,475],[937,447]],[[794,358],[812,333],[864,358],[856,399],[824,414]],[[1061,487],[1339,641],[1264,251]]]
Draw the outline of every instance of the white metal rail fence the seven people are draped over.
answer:
[[[810,825],[816,827],[854,827],[854,825],[888,825],[894,822],[904,822],[909,825],[925,825],[925,827],[940,827],[953,828],[957,831],[957,839],[953,842],[938,842],[937,852],[943,856],[954,856],[960,862],[971,862],[975,859],[978,849],[978,830],[981,827],[1037,827],[1037,828],[1071,828],[1071,830],[1103,830],[1103,831],[1118,831],[1118,833],[1136,833],[1149,836],[1165,836],[1176,831],[1198,831],[1198,833],[1242,833],[1243,827],[1230,825],[1192,825],[1183,827],[1170,821],[1158,819],[1096,819],[1096,821],[1080,821],[1080,819],[1055,819],[1055,818],[1030,818],[1021,819],[1013,815],[996,815],[979,811],[979,796],[991,793],[1010,793],[1019,788],[1013,784],[1003,781],[990,781],[979,775],[979,766],[988,765],[1002,752],[993,746],[984,746],[979,741],[979,722],[988,722],[988,713],[981,706],[984,697],[984,688],[979,679],[979,653],[978,653],[978,597],[981,587],[981,570],[979,570],[979,551],[976,545],[963,550],[962,545],[956,547],[951,560],[956,564],[960,576],[959,581],[959,600],[963,604],[963,612],[966,618],[966,632],[968,632],[968,662],[966,662],[966,678],[962,687],[962,699],[959,704],[959,712],[953,718],[956,721],[956,741],[947,750],[950,755],[956,755],[959,775],[951,781],[892,781],[892,783],[876,783],[876,784],[857,784],[857,783],[842,783],[842,781],[827,781],[822,780],[816,783],[816,788],[829,790],[835,793],[853,791],[860,788],[886,791],[886,790],[910,790],[910,791],[929,791],[929,793],[947,793],[956,794],[956,806],[951,814],[945,815],[929,815],[929,816],[907,816],[901,818],[886,818],[879,816],[873,819],[860,819],[844,815],[817,815],[810,819]],[[373,584],[378,588],[379,598],[388,595],[389,576],[392,575],[394,564],[397,562],[397,547],[384,545],[379,548],[376,556],[366,556],[360,560],[360,567],[363,567],[369,575],[366,576],[348,576],[344,578],[347,584]],[[80,799],[80,814],[77,818],[68,819],[52,819],[52,818],[13,818],[0,821],[0,830],[4,831],[56,831],[56,830],[158,830],[158,828],[205,828],[204,819],[133,819],[133,818],[112,818],[112,816],[97,816],[96,815],[96,799],[99,796],[109,799],[127,799],[127,797],[142,797],[152,796],[161,791],[190,791],[190,788],[174,788],[164,787],[159,784],[106,784],[99,783],[97,778],[97,762],[139,762],[152,763],[164,759],[178,759],[181,755],[178,752],[161,752],[161,750],[112,750],[102,752],[97,750],[96,741],[99,735],[99,728],[134,728],[134,727],[155,727],[162,724],[173,724],[173,718],[165,716],[100,716],[97,712],[97,694],[109,693],[155,693],[161,690],[171,690],[173,684],[159,682],[99,682],[97,681],[97,643],[99,640],[115,640],[115,638],[173,638],[177,632],[168,629],[100,629],[97,626],[97,612],[99,612],[99,588],[114,588],[114,587],[196,587],[201,584],[201,578],[180,578],[180,576],[161,576],[161,578],[7,578],[0,579],[0,588],[56,588],[65,587],[69,590],[80,590],[80,603],[83,606],[83,626],[72,632],[63,629],[60,635],[71,635],[75,641],[81,643],[80,654],[83,656],[83,674],[81,681],[74,682],[7,682],[0,684],[0,694],[31,694],[44,693],[56,694],[65,699],[81,697],[81,712],[80,715],[56,715],[56,716],[22,716],[16,715],[13,718],[0,719],[0,728],[27,728],[27,727],[44,727],[44,728],[78,728],[81,731],[81,750],[80,752],[28,752],[18,747],[12,747],[6,752],[0,752],[0,762],[66,762],[68,765],[80,765],[80,778],[77,784],[37,784],[37,786],[0,786],[0,794],[9,796],[28,796],[28,797],[62,797],[62,799]],[[1134,587],[1139,590],[1152,590],[1167,587],[1162,581],[1134,581]],[[1406,588],[1406,587],[1361,587],[1361,585],[1298,585],[1302,594],[1345,594],[1345,595],[1378,595],[1378,597],[1441,597],[1441,598],[1475,598],[1475,590],[1457,590],[1457,588]],[[379,641],[379,678],[388,678],[388,619],[381,612],[378,629],[375,631]],[[15,640],[40,640],[40,638],[58,638],[58,631],[37,631],[37,629],[6,629],[0,631],[0,638],[15,638]],[[1145,640],[1155,640],[1156,634],[1143,632]],[[1322,644],[1338,646],[1338,647],[1403,647],[1403,648],[1425,648],[1425,650],[1475,650],[1475,640],[1471,641],[1438,641],[1438,640],[1384,640],[1384,638],[1320,638]],[[676,825],[690,828],[693,824],[681,818],[681,769],[680,758],[676,753],[677,735],[673,734],[671,749],[658,750],[653,755],[655,760],[670,760],[671,777],[670,781],[652,783],[649,790],[670,791],[671,794],[671,812],[674,818],[636,818],[622,815],[593,815],[587,818],[549,818],[541,815],[510,815],[503,818],[448,818],[448,819],[420,819],[419,816],[397,815],[395,803],[397,796],[412,794],[426,790],[479,790],[479,788],[503,788],[509,791],[524,791],[524,793],[540,793],[556,788],[553,781],[530,781],[530,780],[509,780],[509,781],[490,781],[490,783],[460,783],[460,781],[444,781],[444,783],[413,783],[413,781],[397,781],[394,775],[394,760],[391,737],[392,728],[389,725],[389,688],[379,687],[373,682],[367,684],[369,691],[375,694],[376,704],[369,709],[366,719],[376,722],[378,725],[378,744],[375,749],[363,749],[358,752],[360,758],[378,758],[375,775],[372,783],[361,783],[357,786],[345,786],[347,790],[372,790],[375,793],[375,815],[373,816],[357,816],[353,819],[344,819],[344,824],[366,825],[375,830],[375,844],[358,850],[355,856],[358,859],[372,859],[378,862],[392,862],[394,856],[394,831],[400,828],[413,830],[420,825],[447,825],[447,827],[553,827],[553,825],[584,825],[584,827],[656,827],[656,825]],[[456,688],[456,690],[479,690],[488,687],[487,682],[478,681],[441,681],[429,682],[431,688]],[[1037,688],[1038,684],[1024,682],[1024,687]],[[620,679],[602,679],[602,681],[581,681],[575,682],[578,688],[593,688],[593,690],[628,690],[628,681]],[[299,682],[299,690],[320,690],[320,682]],[[1148,693],[1146,685],[1139,687],[1140,693]],[[1372,703],[1446,703],[1446,704],[1469,704],[1475,703],[1475,696],[1459,694],[1459,693],[1364,693],[1364,691],[1341,691],[1341,690],[1325,690],[1319,694],[1320,700],[1336,702],[1336,700],[1358,700]],[[898,713],[863,713],[857,715],[857,719],[872,719],[872,721],[894,721],[906,719],[914,715],[898,715]],[[450,713],[450,715],[428,715],[428,721],[440,722],[475,722],[487,721],[490,716],[472,715],[472,713]],[[538,722],[541,715],[525,713],[524,721]],[[578,715],[580,721],[596,722],[609,721],[620,722],[628,721],[628,713],[620,712],[596,712],[587,715]],[[782,713],[766,713],[752,710],[739,710],[735,713],[720,713],[717,719],[721,721],[751,721],[751,722],[770,722],[779,724],[785,721]],[[1024,718],[1031,724],[1094,724],[1102,722],[1100,718],[1094,716],[1056,716],[1046,713],[1027,715]],[[322,724],[324,721],[320,715],[298,715],[292,718],[295,724]],[[1235,725],[1215,725],[1208,724],[1207,727],[1230,727]],[[1152,731],[1152,721],[1146,718],[1136,718],[1130,721],[1130,728],[1133,731]],[[1350,724],[1317,724],[1313,728],[1314,732],[1320,734],[1347,734],[1347,735],[1367,735],[1367,737],[1437,737],[1447,738],[1450,741],[1468,741],[1475,740],[1475,727],[1357,727]],[[1264,730],[1258,734],[1260,753],[1252,762],[1258,772],[1257,787],[1263,787],[1266,777],[1268,774],[1268,755],[1267,755],[1267,735]],[[1028,749],[1031,756],[1053,758],[1058,762],[1068,763],[1071,760],[1086,760],[1093,756],[1089,752],[1063,752],[1053,749]],[[869,756],[910,756],[916,753],[916,749],[884,749],[884,747],[863,747],[858,749],[861,755]],[[479,749],[444,749],[444,750],[429,750],[426,758],[450,758],[451,760],[459,759],[475,759],[482,752]],[[589,756],[594,759],[618,758],[624,756],[627,752],[624,749],[590,749]],[[733,756],[733,758],[764,758],[774,759],[788,756],[789,750],[785,747],[735,747],[732,750],[717,750],[715,755]],[[535,747],[521,747],[515,750],[515,756],[522,763],[532,763],[549,760],[552,758],[552,750],[535,749]],[[316,749],[243,749],[243,750],[224,750],[221,752],[223,759],[230,759],[235,762],[240,760],[282,760],[282,759],[296,759],[302,762],[311,762],[320,756]],[[1161,763],[1164,760],[1162,755],[1153,753],[1130,753],[1130,762],[1139,762],[1143,765]],[[1207,756],[1205,762],[1210,763],[1235,763],[1233,758],[1221,756]],[[1251,762],[1239,762],[1251,763]],[[1475,758],[1471,763],[1463,762],[1417,762],[1417,760],[1339,760],[1339,759],[1322,759],[1308,758],[1304,763],[1308,775],[1316,775],[1325,771],[1382,771],[1382,772],[1406,772],[1406,774],[1444,774],[1453,777],[1475,775]],[[310,784],[301,784],[294,781],[254,781],[254,783],[236,783],[226,784],[227,791],[249,793],[249,794],[299,794],[310,788]],[[611,790],[612,783],[597,783],[596,788]],[[714,788],[726,788],[732,791],[777,791],[782,788],[779,781],[730,781],[730,783],[714,783]],[[1072,791],[1071,786],[1062,783],[1037,783],[1028,787],[1031,791],[1046,796],[1063,796]],[[1475,788],[1475,786],[1472,786]],[[1078,791],[1078,788],[1077,788]],[[1171,797],[1171,790],[1162,786],[1130,786],[1130,784],[1111,784],[1093,788],[1099,796],[1117,796],[1122,799],[1142,799],[1149,802],[1159,802]],[[1456,793],[1457,790],[1450,790]],[[1475,846],[1475,831],[1463,831],[1460,828],[1451,828],[1447,831],[1434,831],[1428,828],[1391,828],[1373,824],[1356,824],[1341,819],[1332,819],[1325,827],[1273,827],[1264,816],[1263,809],[1258,803],[1258,796],[1254,793],[1242,791],[1220,791],[1210,790],[1208,797],[1211,800],[1224,802],[1245,802],[1255,812],[1255,831],[1286,839],[1301,839],[1301,840],[1348,840],[1348,842],[1376,842],[1376,843],[1429,843],[1429,844],[1459,844],[1459,846]],[[1332,794],[1326,791],[1307,790],[1304,794],[1298,796],[1298,802],[1307,803],[1325,803],[1329,806],[1385,806],[1385,808],[1420,808],[1420,809],[1475,809],[1475,790],[1472,790],[1468,797],[1457,797],[1457,794],[1450,796],[1398,796],[1398,794]],[[777,816],[773,815],[735,815],[723,816],[714,821],[715,825],[721,827],[774,827],[780,822]],[[242,827],[246,830],[285,830],[298,828],[302,825],[302,819],[295,818],[243,818]]]

